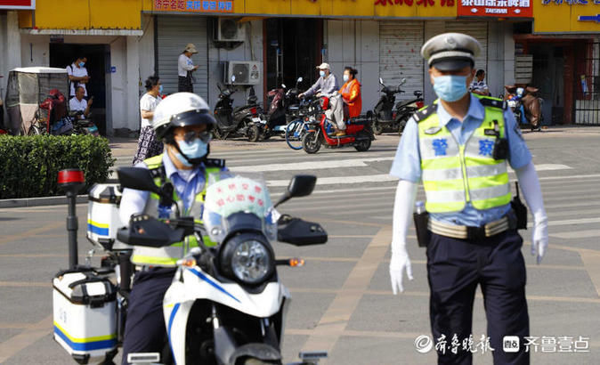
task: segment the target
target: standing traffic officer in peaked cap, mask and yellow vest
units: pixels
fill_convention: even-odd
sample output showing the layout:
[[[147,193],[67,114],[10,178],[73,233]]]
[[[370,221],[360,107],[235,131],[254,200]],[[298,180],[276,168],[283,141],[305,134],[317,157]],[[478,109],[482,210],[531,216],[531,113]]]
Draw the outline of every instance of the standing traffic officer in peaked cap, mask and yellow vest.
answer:
[[[450,344],[457,335],[461,344],[458,353],[438,350],[438,363],[472,362],[472,353],[462,344],[472,334],[479,284],[494,363],[526,364],[523,239],[515,229],[508,164],[533,215],[531,254],[537,255],[538,264],[547,248],[547,215],[531,153],[513,113],[498,99],[467,93],[480,52],[474,37],[458,33],[433,37],[421,49],[439,99],[409,120],[393,160],[390,174],[400,182],[390,277],[394,294],[403,291],[403,272],[412,280],[406,232],[422,181],[429,213],[426,255],[434,343],[445,337]],[[518,352],[503,351],[504,336],[522,338]]]

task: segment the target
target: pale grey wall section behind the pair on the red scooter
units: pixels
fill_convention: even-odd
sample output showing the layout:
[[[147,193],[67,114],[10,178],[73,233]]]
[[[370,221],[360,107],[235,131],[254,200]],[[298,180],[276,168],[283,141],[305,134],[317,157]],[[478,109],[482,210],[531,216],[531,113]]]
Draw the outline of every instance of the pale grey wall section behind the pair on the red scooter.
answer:
[[[327,20],[327,62],[341,86],[345,66],[358,69],[362,113],[372,110],[379,99],[379,23],[373,20]]]

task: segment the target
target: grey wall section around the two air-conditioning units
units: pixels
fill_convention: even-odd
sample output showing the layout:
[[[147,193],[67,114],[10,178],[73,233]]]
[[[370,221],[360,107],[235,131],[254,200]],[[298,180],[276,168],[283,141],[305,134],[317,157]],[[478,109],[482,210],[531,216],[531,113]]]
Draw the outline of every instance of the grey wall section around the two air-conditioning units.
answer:
[[[217,82],[223,82],[223,61],[261,61],[263,62],[263,20],[253,20],[244,23],[246,28],[246,41],[239,47],[232,50],[216,48],[213,42],[212,21],[217,18],[209,18],[208,22],[208,105],[211,109],[215,108],[219,89]],[[249,88],[239,86],[233,94],[233,105],[246,104]],[[263,83],[255,85],[256,97],[258,101],[263,100]]]

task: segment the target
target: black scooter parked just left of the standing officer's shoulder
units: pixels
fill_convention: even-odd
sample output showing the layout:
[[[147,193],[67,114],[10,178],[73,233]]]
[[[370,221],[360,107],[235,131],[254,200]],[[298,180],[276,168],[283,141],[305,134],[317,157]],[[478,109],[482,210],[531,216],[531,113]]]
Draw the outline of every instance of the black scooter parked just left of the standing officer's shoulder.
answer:
[[[394,108],[394,102],[396,101],[395,94],[404,93],[400,87],[405,83],[406,78],[402,78],[400,85],[390,87],[386,86],[384,80],[379,77],[379,84],[383,86],[381,89],[381,93],[383,94],[381,95],[381,98],[379,98],[379,101],[377,101],[372,112],[372,128],[374,134],[382,134],[385,129],[398,131],[398,133],[401,134],[406,123],[409,121],[410,116],[425,105],[423,98],[421,97],[423,93],[416,91],[413,93],[415,99],[398,101]],[[371,114],[369,114],[369,117],[370,116]]]

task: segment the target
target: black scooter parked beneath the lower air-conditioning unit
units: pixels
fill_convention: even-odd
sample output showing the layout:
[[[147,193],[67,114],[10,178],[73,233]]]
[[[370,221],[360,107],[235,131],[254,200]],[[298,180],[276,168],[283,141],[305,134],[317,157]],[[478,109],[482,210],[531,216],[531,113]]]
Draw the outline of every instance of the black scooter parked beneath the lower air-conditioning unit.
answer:
[[[235,76],[231,76],[231,84],[235,82]],[[250,88],[247,104],[233,108],[231,95],[235,93],[233,88],[217,83],[219,88],[219,100],[215,105],[215,119],[217,125],[213,129],[215,138],[226,139],[230,134],[246,135],[251,142],[258,141],[259,134],[256,132],[255,124],[264,124],[263,109],[258,105],[254,87]]]

